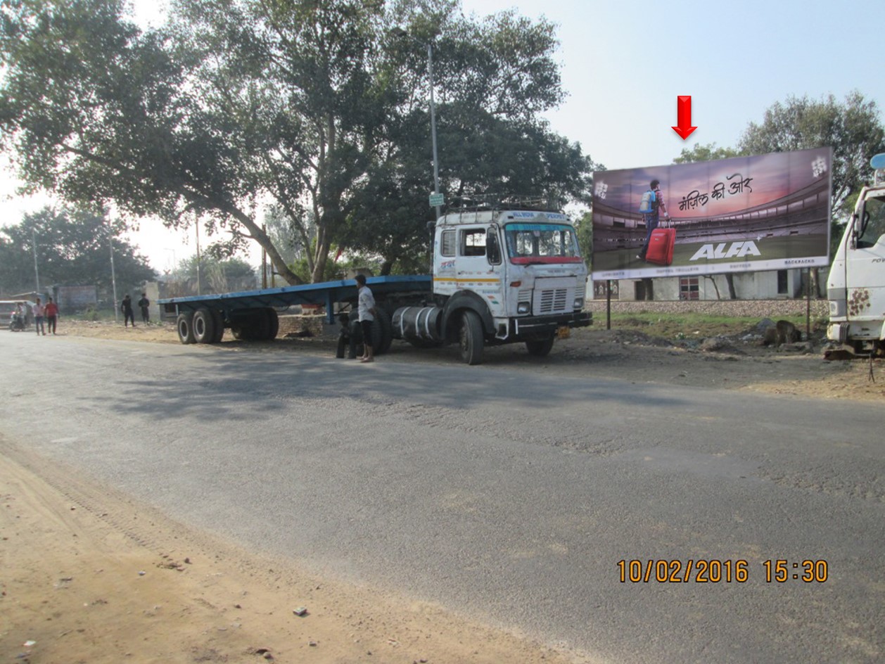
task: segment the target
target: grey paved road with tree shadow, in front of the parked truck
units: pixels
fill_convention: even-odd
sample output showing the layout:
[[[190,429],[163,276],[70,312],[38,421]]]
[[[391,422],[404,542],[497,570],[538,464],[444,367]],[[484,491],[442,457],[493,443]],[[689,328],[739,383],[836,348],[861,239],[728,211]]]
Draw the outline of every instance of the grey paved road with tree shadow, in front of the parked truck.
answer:
[[[5,436],[315,571],[598,661],[885,658],[881,405],[10,333],[0,356]],[[747,581],[620,582],[689,559]]]

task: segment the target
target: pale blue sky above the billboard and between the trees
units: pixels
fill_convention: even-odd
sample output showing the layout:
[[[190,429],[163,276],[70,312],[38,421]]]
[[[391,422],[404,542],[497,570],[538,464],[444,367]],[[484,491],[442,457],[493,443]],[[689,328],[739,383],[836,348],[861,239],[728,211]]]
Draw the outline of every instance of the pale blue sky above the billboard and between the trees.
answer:
[[[546,118],[553,131],[581,143],[585,154],[608,169],[671,164],[696,143],[734,146],[750,121],[761,122],[766,108],[791,96],[820,99],[832,93],[843,101],[856,89],[885,114],[885,67],[876,52],[881,0],[461,4],[477,17],[515,8],[558,26],[555,58],[567,97]],[[157,22],[162,6],[136,0],[135,17]],[[697,129],[682,140],[671,127],[677,124],[676,98],[686,95]],[[23,212],[45,204],[8,199],[11,176],[0,177],[4,223],[17,223]],[[161,271],[196,251],[193,231],[166,231],[155,220],[142,222],[130,241]],[[257,263],[260,252],[248,258]]]

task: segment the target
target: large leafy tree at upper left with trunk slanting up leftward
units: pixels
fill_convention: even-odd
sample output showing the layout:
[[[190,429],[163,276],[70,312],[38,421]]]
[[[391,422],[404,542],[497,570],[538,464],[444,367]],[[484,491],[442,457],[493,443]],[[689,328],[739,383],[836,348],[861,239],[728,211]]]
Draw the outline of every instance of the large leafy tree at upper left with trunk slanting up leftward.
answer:
[[[112,201],[173,226],[200,217],[230,231],[228,252],[251,238],[285,271],[250,213],[238,119],[195,94],[200,62],[171,30],[142,33],[122,11],[120,0],[3,4],[0,127],[19,175],[72,204]]]

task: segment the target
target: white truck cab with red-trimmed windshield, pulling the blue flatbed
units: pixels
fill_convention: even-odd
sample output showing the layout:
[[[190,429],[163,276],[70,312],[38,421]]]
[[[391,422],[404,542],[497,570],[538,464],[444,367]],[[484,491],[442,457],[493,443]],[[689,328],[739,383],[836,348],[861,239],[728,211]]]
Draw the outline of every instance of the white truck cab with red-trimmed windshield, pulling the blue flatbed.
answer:
[[[488,344],[524,342],[550,352],[570,329],[588,326],[587,266],[562,212],[465,208],[435,224],[433,305],[394,313],[395,336],[457,342],[468,364]],[[416,338],[417,337],[417,338]]]

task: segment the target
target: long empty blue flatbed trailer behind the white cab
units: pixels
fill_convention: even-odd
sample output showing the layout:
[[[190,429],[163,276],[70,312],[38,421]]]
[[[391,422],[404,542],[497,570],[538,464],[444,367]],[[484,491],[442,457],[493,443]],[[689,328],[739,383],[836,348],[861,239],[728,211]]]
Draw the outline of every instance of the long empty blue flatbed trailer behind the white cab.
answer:
[[[429,274],[367,277],[379,305],[379,349],[387,350],[392,341],[390,314],[399,305],[412,305],[432,295],[433,280]],[[278,313],[294,305],[323,306],[327,322],[335,315],[356,311],[357,284],[354,280],[307,283],[233,293],[168,297],[160,299],[163,320],[175,321],[182,344],[217,344],[229,328],[235,339],[269,341],[280,328]]]

